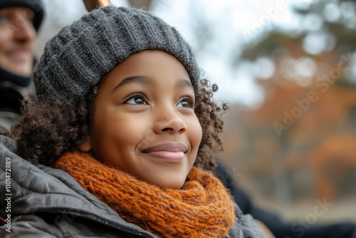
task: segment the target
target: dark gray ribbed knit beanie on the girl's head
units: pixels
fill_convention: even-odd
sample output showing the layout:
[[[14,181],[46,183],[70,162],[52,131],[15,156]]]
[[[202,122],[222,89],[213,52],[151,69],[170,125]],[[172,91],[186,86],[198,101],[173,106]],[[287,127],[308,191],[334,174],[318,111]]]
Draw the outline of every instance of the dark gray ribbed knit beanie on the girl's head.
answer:
[[[64,27],[46,43],[33,72],[36,94],[76,105],[117,63],[145,50],[177,58],[197,93],[199,68],[176,29],[146,11],[106,6]]]

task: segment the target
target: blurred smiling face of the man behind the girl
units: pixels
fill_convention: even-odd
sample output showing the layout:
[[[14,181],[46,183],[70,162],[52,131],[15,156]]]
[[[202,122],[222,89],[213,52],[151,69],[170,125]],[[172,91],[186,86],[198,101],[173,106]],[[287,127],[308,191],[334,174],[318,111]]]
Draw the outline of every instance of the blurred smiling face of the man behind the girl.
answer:
[[[31,76],[36,30],[33,11],[22,6],[0,9],[0,67],[19,76]]]

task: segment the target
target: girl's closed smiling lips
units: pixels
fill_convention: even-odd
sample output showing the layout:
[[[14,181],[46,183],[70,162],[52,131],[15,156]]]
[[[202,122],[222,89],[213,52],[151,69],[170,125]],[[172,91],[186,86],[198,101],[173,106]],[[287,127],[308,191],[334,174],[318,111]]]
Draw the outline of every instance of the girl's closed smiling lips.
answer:
[[[187,146],[181,143],[164,143],[142,150],[142,153],[166,162],[182,162]]]

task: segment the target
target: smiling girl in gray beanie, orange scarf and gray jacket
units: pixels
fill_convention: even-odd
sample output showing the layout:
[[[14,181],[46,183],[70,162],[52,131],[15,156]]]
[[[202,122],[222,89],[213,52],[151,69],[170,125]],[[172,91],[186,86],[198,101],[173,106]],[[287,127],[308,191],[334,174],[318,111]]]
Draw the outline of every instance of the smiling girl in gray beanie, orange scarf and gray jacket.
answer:
[[[13,128],[18,150],[0,140],[1,171],[11,167],[1,235],[261,236],[203,170],[221,150],[226,106],[161,19],[95,10],[48,41],[33,79],[37,100]]]

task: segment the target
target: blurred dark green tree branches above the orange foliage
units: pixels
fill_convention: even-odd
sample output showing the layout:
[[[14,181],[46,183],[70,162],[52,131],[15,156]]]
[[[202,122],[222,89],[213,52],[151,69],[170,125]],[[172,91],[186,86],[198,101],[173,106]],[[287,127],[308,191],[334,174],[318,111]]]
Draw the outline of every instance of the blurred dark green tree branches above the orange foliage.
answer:
[[[241,61],[258,61],[258,58],[276,59],[283,54],[297,58],[307,56],[315,61],[335,63],[340,56],[351,58],[356,50],[356,1],[315,0],[310,4],[293,6],[297,29],[274,27],[249,43],[235,64]],[[298,50],[290,46],[298,45]],[[326,57],[325,57],[326,56]],[[329,64],[330,64],[329,63]],[[355,66],[345,74],[344,81],[355,81]]]

